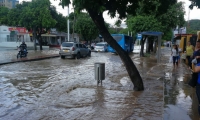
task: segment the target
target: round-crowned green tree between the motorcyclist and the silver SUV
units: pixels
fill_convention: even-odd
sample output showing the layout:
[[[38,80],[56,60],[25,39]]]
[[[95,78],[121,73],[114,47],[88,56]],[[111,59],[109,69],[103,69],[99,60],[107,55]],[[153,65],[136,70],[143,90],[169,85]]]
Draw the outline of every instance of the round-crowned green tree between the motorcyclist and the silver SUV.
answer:
[[[32,28],[34,36],[38,39],[40,50],[42,50],[43,28],[50,28],[56,24],[50,13],[49,0],[34,0],[26,6],[21,13],[20,24],[26,28]]]

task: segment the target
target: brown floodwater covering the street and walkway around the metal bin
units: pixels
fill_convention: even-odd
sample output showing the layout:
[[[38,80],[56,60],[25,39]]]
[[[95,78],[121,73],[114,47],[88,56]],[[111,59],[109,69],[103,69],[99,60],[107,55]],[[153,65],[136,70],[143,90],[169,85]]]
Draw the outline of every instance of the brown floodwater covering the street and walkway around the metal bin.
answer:
[[[111,53],[2,65],[0,119],[196,120],[195,92],[187,85],[191,73],[184,64],[174,70],[168,50],[160,64],[152,56],[130,55],[143,78],[140,92],[133,91],[119,56]],[[105,63],[102,86],[94,79],[95,62]]]

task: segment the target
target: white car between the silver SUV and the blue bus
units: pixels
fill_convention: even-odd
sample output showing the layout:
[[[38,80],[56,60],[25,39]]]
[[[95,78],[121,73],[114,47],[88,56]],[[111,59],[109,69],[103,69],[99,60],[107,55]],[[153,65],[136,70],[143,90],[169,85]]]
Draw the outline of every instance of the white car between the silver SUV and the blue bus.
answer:
[[[99,42],[95,45],[94,51],[96,52],[107,52],[108,51],[108,44],[107,42]]]

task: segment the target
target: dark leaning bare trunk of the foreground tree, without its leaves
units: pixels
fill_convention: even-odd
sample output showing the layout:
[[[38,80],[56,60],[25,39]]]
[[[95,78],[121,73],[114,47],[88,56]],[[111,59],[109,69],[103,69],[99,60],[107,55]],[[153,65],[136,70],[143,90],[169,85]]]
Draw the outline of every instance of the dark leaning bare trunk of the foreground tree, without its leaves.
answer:
[[[129,77],[134,85],[134,90],[141,91],[144,90],[142,78],[134,65],[132,59],[129,57],[128,53],[126,53],[120,45],[113,39],[111,34],[108,32],[103,19],[103,14],[96,13],[93,10],[88,10],[92,20],[96,24],[97,28],[100,31],[100,34],[103,36],[105,41],[116,50],[119,54],[122,62],[124,63],[126,70],[129,74]]]

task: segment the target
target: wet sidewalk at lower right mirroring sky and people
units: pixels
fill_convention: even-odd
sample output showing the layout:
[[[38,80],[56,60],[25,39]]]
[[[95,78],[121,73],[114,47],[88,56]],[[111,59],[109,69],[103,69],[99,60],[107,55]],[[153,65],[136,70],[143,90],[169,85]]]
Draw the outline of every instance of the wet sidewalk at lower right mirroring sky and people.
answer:
[[[191,75],[183,76],[180,71],[165,74],[164,119],[198,120],[196,94],[194,88],[187,84]]]

